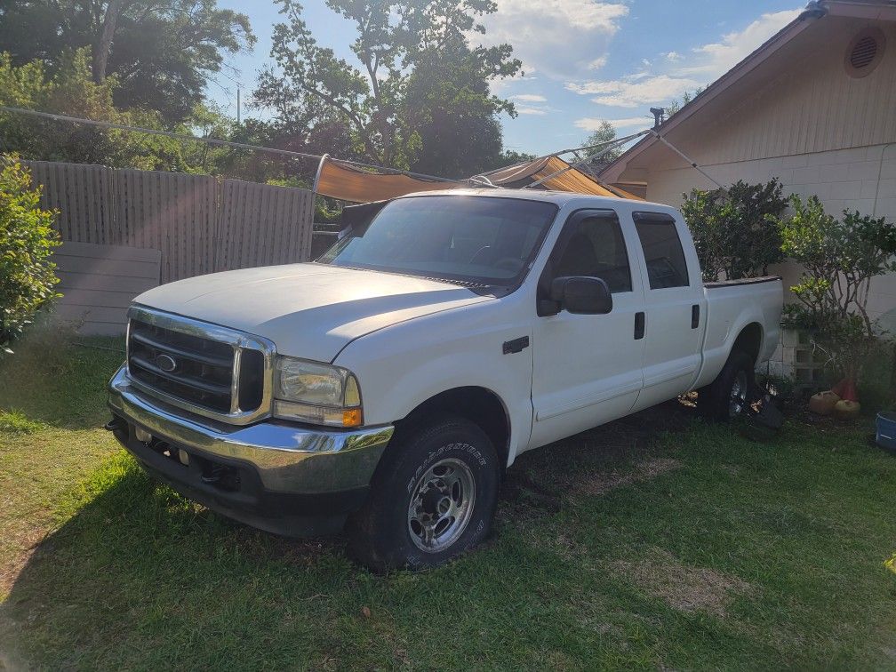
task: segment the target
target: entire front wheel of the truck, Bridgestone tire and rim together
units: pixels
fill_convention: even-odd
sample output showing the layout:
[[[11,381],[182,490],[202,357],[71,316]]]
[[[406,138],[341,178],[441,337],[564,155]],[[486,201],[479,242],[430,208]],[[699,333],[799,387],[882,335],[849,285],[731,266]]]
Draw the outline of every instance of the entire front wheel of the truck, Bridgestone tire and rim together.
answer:
[[[383,571],[443,564],[487,537],[499,464],[477,425],[442,418],[396,436],[364,507],[349,518],[349,552]]]

